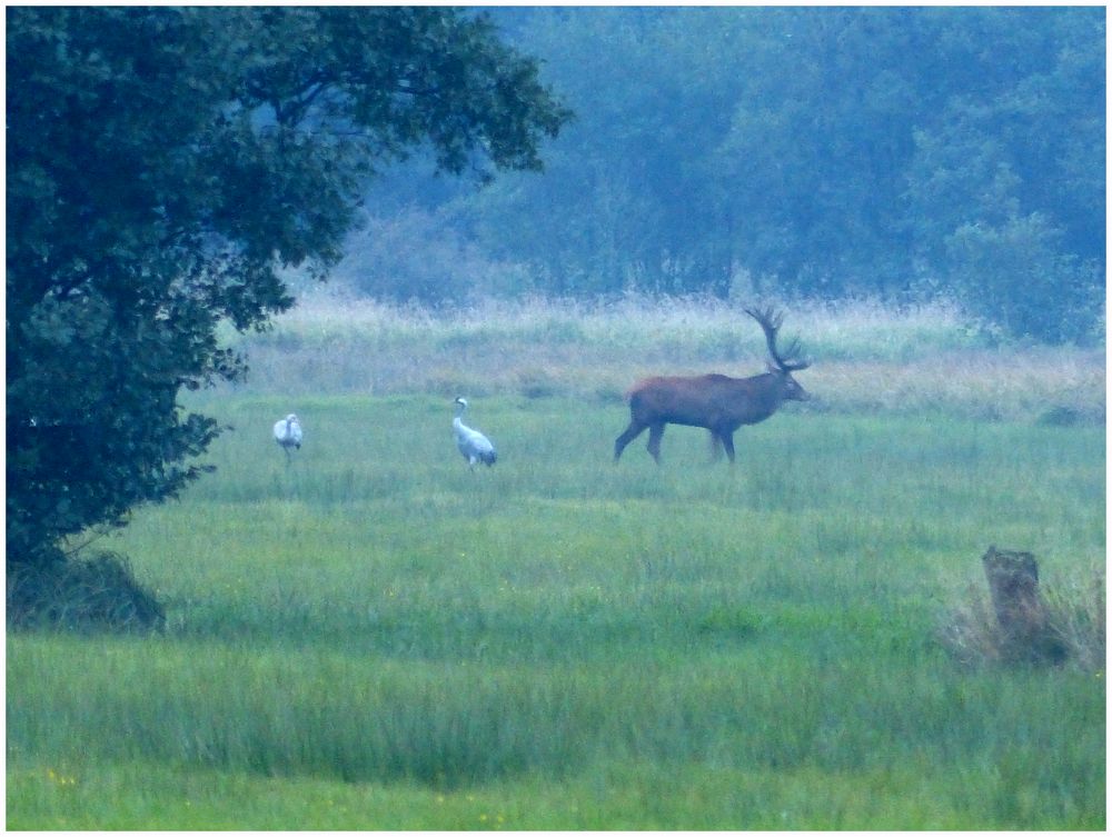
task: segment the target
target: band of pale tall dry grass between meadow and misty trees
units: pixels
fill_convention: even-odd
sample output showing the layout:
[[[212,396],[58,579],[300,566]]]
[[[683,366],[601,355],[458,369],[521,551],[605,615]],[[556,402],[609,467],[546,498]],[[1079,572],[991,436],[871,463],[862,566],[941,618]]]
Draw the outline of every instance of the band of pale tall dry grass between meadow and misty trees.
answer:
[[[1001,346],[944,303],[782,305],[813,366],[812,409],[1052,424],[1105,415],[1103,349]],[[617,400],[647,375],[763,371],[761,329],[736,302],[628,296],[398,307],[342,291],[302,298],[272,331],[229,342],[247,391],[289,396],[520,393]]]

